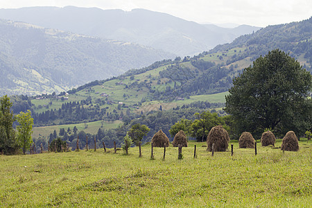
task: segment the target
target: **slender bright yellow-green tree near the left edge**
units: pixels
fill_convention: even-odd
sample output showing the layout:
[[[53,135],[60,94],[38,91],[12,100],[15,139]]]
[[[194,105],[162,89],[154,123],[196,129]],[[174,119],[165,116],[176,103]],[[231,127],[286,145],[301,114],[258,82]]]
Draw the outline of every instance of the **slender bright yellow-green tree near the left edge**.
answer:
[[[17,122],[17,142],[19,146],[23,150],[23,154],[25,155],[25,151],[29,149],[29,145],[33,143],[33,139],[31,138],[31,134],[33,133],[33,118],[31,117],[31,111],[28,110],[25,112],[20,112],[16,116]]]

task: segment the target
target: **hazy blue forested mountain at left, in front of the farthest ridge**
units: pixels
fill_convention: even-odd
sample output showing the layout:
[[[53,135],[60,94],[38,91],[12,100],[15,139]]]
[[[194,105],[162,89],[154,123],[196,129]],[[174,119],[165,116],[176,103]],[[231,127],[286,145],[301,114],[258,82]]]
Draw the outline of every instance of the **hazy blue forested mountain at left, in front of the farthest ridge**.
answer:
[[[129,42],[0,20],[0,95],[62,92],[171,57]]]

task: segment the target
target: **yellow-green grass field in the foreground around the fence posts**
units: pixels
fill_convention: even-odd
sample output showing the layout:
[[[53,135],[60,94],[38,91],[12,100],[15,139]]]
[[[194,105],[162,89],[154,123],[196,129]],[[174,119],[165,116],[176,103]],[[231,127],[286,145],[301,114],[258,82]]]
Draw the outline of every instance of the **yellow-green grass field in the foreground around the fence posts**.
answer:
[[[301,139],[302,140],[302,139]],[[0,156],[0,207],[311,207],[312,142],[298,152],[239,149],[234,155],[206,151],[190,142],[177,148],[150,146],[107,153]],[[198,155],[193,158],[193,146]]]

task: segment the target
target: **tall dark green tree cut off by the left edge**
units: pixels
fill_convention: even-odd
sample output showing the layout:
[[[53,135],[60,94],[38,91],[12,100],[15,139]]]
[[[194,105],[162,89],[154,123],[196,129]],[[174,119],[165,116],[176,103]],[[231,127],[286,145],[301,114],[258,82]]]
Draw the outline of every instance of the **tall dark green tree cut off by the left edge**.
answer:
[[[0,98],[0,153],[6,155],[13,154],[18,149],[13,129],[15,118],[10,111],[11,107],[12,103],[8,96]]]

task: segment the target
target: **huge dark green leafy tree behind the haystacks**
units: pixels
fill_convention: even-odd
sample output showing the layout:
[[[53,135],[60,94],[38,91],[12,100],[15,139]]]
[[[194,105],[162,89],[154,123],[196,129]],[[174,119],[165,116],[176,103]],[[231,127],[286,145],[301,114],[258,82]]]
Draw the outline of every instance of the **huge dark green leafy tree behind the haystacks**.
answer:
[[[232,114],[240,132],[256,135],[265,128],[298,133],[311,128],[311,73],[294,58],[276,49],[259,57],[234,78],[225,111]]]

